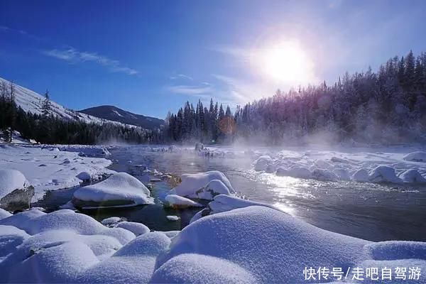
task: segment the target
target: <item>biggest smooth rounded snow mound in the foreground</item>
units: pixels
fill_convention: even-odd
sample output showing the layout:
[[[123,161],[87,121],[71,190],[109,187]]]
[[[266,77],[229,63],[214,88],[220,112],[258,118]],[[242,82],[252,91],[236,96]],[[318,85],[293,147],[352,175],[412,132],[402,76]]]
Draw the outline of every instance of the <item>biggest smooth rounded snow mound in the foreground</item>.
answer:
[[[318,229],[268,207],[234,209],[193,222],[175,236],[170,251],[158,259],[160,268],[153,282],[157,279],[178,282],[182,274],[202,279],[203,271],[192,269],[193,263],[200,262],[197,261],[200,258],[191,257],[196,253],[207,259],[221,258],[226,262],[219,262],[218,266],[226,271],[237,268],[237,275],[242,278],[234,278],[233,282],[244,282],[252,275],[249,279],[256,281],[251,282],[302,283],[305,266],[347,269],[366,257],[363,250],[366,244],[368,241]],[[191,254],[182,258],[185,253]],[[179,268],[166,264],[172,260],[180,263]],[[229,262],[234,266],[226,265]],[[209,266],[202,263],[202,267]],[[163,265],[165,268],[161,269]],[[173,269],[181,272],[172,273]],[[212,269],[207,271],[211,273]]]

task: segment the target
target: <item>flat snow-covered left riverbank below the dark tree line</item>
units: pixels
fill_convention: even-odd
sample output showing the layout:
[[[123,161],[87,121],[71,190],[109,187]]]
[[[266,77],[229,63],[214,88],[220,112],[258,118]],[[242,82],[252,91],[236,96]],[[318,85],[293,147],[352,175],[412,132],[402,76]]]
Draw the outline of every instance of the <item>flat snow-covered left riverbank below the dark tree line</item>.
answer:
[[[111,165],[110,160],[80,157],[78,153],[55,151],[56,149],[53,146],[2,145],[0,168],[21,172],[34,187],[33,201],[42,198],[47,190],[80,185],[82,180],[77,178],[79,173],[87,172],[94,180],[114,173],[107,169]]]

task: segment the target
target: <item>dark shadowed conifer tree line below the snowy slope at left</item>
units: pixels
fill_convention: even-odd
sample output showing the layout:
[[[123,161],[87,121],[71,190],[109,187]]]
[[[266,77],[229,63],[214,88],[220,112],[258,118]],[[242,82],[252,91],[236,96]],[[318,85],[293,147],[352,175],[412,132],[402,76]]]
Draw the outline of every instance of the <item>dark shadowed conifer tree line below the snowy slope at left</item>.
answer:
[[[109,141],[126,143],[158,143],[160,131],[113,123],[86,123],[63,119],[52,114],[50,97],[45,93],[42,114],[24,111],[15,102],[16,90],[13,82],[0,84],[0,134],[4,141],[12,142],[13,131],[22,138],[34,139],[39,143],[87,144]]]

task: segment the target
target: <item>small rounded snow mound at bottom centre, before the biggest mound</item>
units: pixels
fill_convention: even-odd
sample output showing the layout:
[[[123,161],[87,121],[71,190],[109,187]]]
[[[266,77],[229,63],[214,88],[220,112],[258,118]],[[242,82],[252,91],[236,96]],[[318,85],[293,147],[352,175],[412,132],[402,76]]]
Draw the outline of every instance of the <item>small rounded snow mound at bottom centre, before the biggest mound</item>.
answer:
[[[257,283],[244,268],[214,256],[183,253],[158,268],[150,283]]]

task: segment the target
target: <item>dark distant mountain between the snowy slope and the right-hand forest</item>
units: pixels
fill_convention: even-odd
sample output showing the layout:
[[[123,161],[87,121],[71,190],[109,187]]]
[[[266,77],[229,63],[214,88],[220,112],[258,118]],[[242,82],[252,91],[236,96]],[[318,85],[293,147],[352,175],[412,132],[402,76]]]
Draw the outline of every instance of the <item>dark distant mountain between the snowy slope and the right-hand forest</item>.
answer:
[[[141,114],[133,114],[114,106],[99,106],[83,109],[79,111],[82,114],[99,117],[100,119],[108,119],[118,121],[122,124],[131,124],[141,126],[144,129],[158,129],[164,124],[163,119],[157,119],[151,116],[143,116]]]

